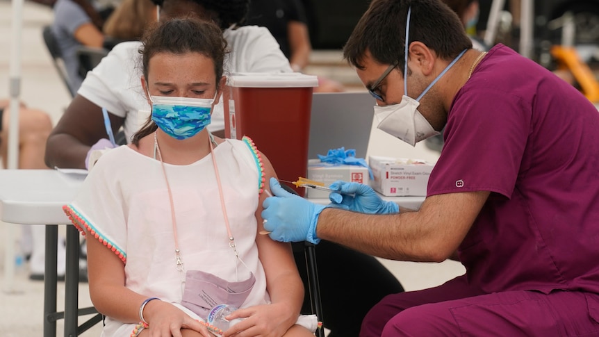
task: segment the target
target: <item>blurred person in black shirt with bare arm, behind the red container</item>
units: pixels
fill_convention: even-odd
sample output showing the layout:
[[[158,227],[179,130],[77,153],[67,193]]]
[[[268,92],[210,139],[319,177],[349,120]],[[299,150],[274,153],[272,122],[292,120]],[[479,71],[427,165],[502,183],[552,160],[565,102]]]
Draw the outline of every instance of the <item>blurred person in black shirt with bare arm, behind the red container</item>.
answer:
[[[246,26],[264,26],[279,43],[294,72],[308,65],[312,51],[306,11],[300,0],[252,0],[245,17]],[[314,92],[342,92],[337,81],[318,76]]]

